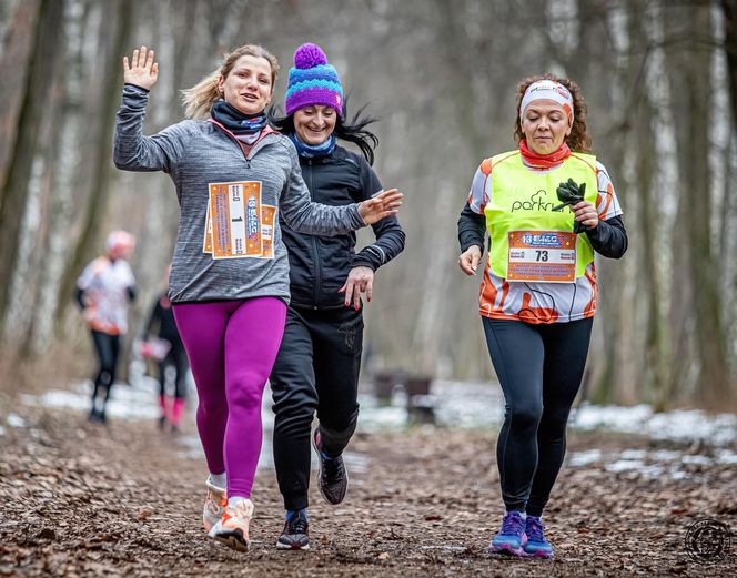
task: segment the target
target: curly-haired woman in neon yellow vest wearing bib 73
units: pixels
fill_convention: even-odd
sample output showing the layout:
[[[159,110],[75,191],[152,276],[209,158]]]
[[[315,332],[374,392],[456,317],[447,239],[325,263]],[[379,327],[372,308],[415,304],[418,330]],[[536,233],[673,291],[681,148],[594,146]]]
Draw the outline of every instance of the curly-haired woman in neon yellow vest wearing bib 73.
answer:
[[[579,88],[552,74],[517,89],[518,149],[486,159],[458,220],[461,270],[475,275],[485,233],[479,313],[504,392],[497,440],[506,507],[491,551],[549,558],[541,516],[565,453],[596,313],[594,253],[627,250],[609,175],[590,153]],[[556,191],[577,201],[562,205]]]

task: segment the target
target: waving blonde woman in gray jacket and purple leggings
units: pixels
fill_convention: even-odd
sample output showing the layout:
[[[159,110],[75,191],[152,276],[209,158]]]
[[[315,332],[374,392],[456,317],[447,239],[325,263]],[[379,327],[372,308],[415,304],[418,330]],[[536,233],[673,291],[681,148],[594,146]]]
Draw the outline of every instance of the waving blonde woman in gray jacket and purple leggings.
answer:
[[[277,72],[263,48],[235,49],[185,91],[191,120],[143,136],[159,65],[141,47],[123,60],[113,153],[119,169],[164,171],[176,190],[181,216],[169,297],[198,388],[198,432],[210,470],[203,524],[239,550],[249,548],[261,399],[290,298],[280,221],[334,235],[390,216],[401,204],[396,191],[340,207],[310,201],[294,145],[266,123]]]

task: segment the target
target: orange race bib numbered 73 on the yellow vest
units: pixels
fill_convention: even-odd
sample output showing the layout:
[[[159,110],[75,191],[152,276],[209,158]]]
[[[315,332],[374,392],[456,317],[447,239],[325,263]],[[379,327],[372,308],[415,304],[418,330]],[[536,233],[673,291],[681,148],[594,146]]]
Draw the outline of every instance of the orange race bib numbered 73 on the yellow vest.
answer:
[[[509,231],[506,280],[574,283],[576,234],[569,231]]]

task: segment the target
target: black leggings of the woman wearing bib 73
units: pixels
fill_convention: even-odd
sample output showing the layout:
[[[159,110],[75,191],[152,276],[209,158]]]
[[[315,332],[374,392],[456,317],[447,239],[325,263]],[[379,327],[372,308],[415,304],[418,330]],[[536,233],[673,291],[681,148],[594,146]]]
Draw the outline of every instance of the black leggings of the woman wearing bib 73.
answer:
[[[502,498],[507,510],[541,516],[563,464],[594,320],[533,325],[482,318],[505,400],[496,443]]]

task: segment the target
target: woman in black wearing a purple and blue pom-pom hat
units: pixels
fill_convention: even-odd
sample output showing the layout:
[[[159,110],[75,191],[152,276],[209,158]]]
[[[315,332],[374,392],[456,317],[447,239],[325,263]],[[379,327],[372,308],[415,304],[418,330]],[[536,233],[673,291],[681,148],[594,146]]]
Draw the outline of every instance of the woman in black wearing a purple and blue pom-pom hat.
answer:
[[[359,111],[346,121],[343,87],[320,47],[303,44],[294,53],[284,104],[286,116],[272,119],[272,123],[294,143],[313,202],[342,206],[383,191],[371,169],[378,144],[366,129],[373,120]],[[354,144],[362,154],[337,145],[337,139]],[[353,232],[327,239],[282,223],[292,301],[270,378],[276,414],[274,464],[286,509],[277,548],[310,547],[311,437],[322,496],[336,505],[347,490],[342,453],[359,416],[361,294],[371,301],[374,272],[404,249],[404,232],[396,217],[372,226],[376,241],[356,253]],[[315,412],[320,424],[311,436]]]

